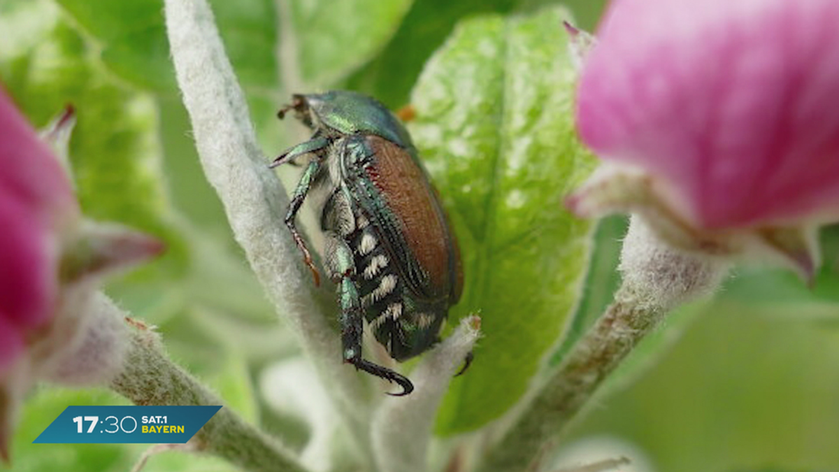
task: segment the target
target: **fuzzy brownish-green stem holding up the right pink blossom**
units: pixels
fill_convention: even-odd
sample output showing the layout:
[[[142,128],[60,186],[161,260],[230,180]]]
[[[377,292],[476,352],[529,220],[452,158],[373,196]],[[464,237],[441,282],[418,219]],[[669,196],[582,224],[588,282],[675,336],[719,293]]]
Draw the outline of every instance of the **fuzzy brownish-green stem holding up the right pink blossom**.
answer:
[[[620,270],[623,284],[612,305],[503,433],[487,454],[482,471],[537,469],[603,380],[659,326],[667,312],[711,293],[727,265],[671,249],[642,220],[633,218]]]

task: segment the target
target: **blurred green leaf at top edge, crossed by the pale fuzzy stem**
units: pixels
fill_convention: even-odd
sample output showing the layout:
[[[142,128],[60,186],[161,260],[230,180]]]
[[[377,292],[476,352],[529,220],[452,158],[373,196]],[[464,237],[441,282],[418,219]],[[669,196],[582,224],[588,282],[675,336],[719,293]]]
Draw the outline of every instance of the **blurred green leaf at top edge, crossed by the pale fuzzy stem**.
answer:
[[[102,61],[133,85],[175,92],[162,0],[57,0],[101,46]],[[399,27],[413,0],[212,0],[221,37],[248,100],[262,116],[279,97],[282,78],[299,76],[314,90],[329,87],[371,60]],[[292,54],[280,67],[280,31]],[[283,70],[293,69],[291,71]],[[285,84],[289,87],[289,84]],[[303,92],[303,91],[290,91]],[[270,113],[273,115],[273,113]]]

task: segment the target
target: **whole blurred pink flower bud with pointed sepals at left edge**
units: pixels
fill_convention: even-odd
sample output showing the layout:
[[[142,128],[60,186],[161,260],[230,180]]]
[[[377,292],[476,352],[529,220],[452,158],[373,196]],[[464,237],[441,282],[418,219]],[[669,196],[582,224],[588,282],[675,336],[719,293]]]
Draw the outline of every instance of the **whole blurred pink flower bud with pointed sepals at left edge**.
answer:
[[[45,138],[65,146],[71,114]],[[98,282],[163,246],[84,220],[64,167],[2,88],[0,133],[0,458],[8,460],[19,405],[35,381],[84,385],[121,369],[125,328],[103,309]]]

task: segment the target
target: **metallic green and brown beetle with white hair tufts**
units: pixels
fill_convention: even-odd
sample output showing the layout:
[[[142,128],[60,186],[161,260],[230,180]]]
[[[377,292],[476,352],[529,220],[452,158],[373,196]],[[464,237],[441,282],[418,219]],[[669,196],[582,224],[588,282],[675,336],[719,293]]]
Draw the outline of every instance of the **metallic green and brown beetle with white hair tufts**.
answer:
[[[408,131],[372,97],[295,94],[278,117],[289,112],[313,134],[270,165],[308,160],[285,224],[318,285],[319,272],[294,223],[307,197],[314,203],[323,265],[341,307],[343,360],[402,387],[390,395],[408,395],[414,390],[408,378],[363,358],[363,323],[399,362],[440,341],[463,289],[460,252],[440,197]],[[466,366],[470,361],[471,355]]]

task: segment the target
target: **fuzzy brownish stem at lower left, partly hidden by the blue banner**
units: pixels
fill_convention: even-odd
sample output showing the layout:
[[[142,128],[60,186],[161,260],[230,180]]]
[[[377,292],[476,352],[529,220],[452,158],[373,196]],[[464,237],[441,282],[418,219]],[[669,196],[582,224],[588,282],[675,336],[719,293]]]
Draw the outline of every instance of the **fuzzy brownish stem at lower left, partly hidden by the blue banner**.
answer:
[[[159,336],[133,323],[125,370],[111,388],[137,405],[221,405],[221,399],[174,364],[160,345]],[[214,454],[248,472],[305,472],[294,454],[274,438],[223,407],[201,427],[191,441],[197,450]]]

